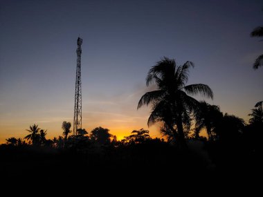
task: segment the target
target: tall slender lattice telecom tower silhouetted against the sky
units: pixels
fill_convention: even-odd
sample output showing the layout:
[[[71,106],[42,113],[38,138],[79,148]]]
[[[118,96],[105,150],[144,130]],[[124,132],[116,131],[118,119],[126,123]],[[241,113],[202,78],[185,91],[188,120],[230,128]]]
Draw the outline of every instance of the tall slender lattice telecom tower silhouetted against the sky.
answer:
[[[73,135],[77,135],[78,129],[82,129],[81,45],[82,39],[78,37]]]

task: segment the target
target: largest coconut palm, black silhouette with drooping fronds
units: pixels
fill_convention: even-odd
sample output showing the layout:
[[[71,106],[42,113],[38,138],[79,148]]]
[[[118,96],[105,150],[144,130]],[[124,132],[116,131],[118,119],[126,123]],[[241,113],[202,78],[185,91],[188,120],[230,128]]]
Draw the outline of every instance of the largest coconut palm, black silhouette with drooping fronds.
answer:
[[[156,90],[145,93],[138,102],[138,108],[152,104],[148,126],[162,121],[174,133],[181,147],[186,147],[183,126],[189,124],[192,113],[197,113],[199,102],[192,95],[202,95],[212,99],[213,93],[208,85],[187,85],[189,68],[192,62],[177,66],[174,59],[163,57],[149,70],[146,86],[155,84]]]

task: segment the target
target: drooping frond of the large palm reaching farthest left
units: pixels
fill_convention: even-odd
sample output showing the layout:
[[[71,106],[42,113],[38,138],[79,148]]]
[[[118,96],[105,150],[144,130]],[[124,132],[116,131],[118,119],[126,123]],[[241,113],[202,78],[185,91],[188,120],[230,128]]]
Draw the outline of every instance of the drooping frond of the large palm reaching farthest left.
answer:
[[[157,90],[157,91],[151,91],[145,93],[138,102],[137,109],[139,109],[143,105],[147,105],[151,102],[156,102],[158,100],[161,100],[161,98],[164,96],[165,91]]]

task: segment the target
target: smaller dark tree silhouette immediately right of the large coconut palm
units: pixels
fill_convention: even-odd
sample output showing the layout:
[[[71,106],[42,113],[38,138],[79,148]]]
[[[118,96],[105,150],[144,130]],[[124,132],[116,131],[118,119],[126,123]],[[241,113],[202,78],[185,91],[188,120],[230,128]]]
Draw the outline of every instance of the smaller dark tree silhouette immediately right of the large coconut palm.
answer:
[[[201,101],[199,105],[200,112],[196,114],[195,132],[199,136],[199,131],[201,129],[206,129],[208,134],[208,140],[212,138],[212,131],[223,118],[223,113],[221,113],[219,106],[210,105],[205,101]],[[197,134],[198,133],[198,134]]]

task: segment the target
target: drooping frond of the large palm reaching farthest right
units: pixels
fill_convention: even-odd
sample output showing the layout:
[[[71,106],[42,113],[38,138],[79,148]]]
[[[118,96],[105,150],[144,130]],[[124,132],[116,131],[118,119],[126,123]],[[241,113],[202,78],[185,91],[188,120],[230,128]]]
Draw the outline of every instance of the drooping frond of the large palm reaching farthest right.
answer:
[[[198,95],[205,96],[213,99],[214,94],[212,93],[212,89],[206,84],[191,84],[184,87],[185,92],[190,95]]]

